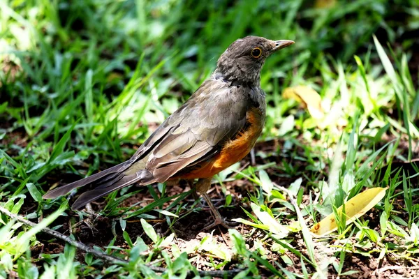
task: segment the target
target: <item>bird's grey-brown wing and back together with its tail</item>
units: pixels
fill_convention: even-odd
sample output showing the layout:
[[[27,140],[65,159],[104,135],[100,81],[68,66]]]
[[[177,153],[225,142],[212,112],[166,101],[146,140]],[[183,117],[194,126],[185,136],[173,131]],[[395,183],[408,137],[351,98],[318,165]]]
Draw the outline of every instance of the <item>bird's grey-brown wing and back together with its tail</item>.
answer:
[[[135,182],[163,182],[189,165],[207,160],[246,123],[249,95],[246,89],[208,80],[191,98],[164,121],[134,156],[115,167],[51,190],[44,198],[65,195],[92,184],[94,190],[80,195],[72,208]]]

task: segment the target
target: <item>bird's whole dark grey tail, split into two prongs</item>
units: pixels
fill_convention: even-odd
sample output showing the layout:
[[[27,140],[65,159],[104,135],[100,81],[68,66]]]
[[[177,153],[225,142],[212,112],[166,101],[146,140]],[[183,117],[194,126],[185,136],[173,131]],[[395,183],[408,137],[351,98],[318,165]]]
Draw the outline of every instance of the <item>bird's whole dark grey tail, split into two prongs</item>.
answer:
[[[82,195],[76,199],[73,206],[71,206],[71,209],[75,210],[80,209],[80,207],[98,199],[99,197],[103,197],[114,190],[129,186],[135,182],[140,182],[143,185],[154,182],[152,173],[150,173],[147,169],[143,169],[129,175],[124,174],[125,169],[126,163],[110,167],[109,169],[105,169],[103,172],[98,172],[97,174],[80,179],[79,181],[50,190],[48,193],[43,195],[43,198],[54,199],[56,197],[66,195],[75,188],[87,186],[89,184],[94,185],[95,188],[93,190],[82,193]]]

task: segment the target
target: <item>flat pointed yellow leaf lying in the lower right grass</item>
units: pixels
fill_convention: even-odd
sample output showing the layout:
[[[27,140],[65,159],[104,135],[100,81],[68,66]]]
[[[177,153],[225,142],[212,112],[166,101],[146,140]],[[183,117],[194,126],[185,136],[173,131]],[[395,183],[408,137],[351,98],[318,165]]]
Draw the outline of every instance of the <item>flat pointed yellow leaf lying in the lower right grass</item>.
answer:
[[[388,187],[371,188],[359,193],[352,199],[349,199],[348,202],[345,203],[346,225],[364,215],[369,209],[372,209],[384,197],[385,190],[387,189]],[[339,209],[337,209],[339,218],[342,218],[342,208],[343,206],[340,206]],[[335,231],[335,229],[337,229],[336,216],[335,213],[332,213],[311,227],[310,232],[322,236],[324,234],[330,234],[330,232]]]

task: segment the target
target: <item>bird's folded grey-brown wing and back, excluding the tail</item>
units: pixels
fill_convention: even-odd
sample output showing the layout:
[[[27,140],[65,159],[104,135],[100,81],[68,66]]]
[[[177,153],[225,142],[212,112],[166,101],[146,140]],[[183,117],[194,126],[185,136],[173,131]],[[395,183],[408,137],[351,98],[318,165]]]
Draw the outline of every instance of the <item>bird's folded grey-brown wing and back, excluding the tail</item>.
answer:
[[[166,181],[208,154],[216,154],[246,123],[246,89],[208,80],[149,137],[125,171],[147,169]]]

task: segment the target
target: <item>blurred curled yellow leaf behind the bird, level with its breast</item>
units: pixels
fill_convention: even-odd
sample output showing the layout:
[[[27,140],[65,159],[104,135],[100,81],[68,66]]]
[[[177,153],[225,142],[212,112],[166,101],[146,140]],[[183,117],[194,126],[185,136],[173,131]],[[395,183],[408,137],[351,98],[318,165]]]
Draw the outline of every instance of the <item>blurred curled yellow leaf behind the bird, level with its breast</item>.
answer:
[[[316,90],[309,86],[294,86],[284,89],[282,96],[286,99],[297,100],[302,107],[307,108],[310,115],[315,119],[321,119],[324,116],[323,108],[321,107],[321,97]]]

